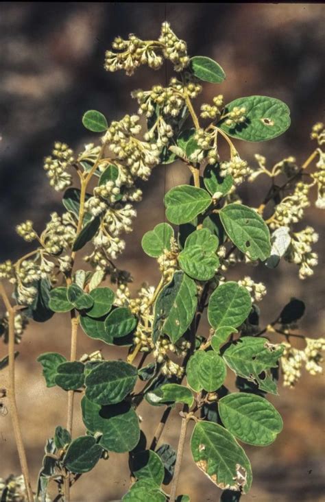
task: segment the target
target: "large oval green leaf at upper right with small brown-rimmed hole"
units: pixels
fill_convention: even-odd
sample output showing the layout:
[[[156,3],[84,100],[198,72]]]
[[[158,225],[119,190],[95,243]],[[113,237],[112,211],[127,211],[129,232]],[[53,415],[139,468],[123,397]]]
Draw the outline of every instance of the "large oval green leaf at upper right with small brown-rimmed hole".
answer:
[[[244,107],[245,121],[235,127],[221,123],[219,127],[229,136],[245,141],[266,141],[276,138],[289,128],[290,110],[288,106],[274,97],[248,96],[234,99],[226,105],[228,113],[237,106]]]

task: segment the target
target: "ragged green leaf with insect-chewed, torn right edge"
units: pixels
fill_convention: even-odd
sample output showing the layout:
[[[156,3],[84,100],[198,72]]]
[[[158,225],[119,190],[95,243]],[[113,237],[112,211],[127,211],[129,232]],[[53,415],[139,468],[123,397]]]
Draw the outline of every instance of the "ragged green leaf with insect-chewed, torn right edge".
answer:
[[[223,357],[239,377],[256,383],[265,392],[277,394],[269,368],[278,366],[283,349],[283,346],[270,344],[266,338],[243,337],[230,345]]]

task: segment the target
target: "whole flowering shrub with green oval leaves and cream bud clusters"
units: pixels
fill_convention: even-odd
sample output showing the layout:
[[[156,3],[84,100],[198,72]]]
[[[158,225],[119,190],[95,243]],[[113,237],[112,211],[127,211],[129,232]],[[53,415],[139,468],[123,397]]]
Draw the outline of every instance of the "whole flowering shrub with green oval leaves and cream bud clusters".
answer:
[[[255,446],[272,443],[282,419],[267,393],[278,393],[281,374],[283,385],[293,387],[303,364],[311,374],[321,371],[325,339],[295,332],[304,304],[292,298],[263,328],[257,302],[267,294],[265,285],[250,276],[228,280],[227,274],[238,263],[250,267],[260,261],[272,270],[280,260],[298,265],[301,279],[313,274],[318,236],[310,226],[296,230],[295,225],[311,201],[325,206],[324,126],[313,127],[317,147],[302,166],[289,157],[269,168],[261,154],[249,163],[237,145],[285,132],[289,108],[259,95],[227,103],[216,93],[211,104],[195,112],[192,101],[202,82],[218,84],[225,73],[210,58],[190,58],[186,43],[168,23],[158,40],[116,38],[105,68],[132,75],[142,64],[158,69],[165,60],[177,76],[166,88],[134,91],[138,115],[109,124],[101,112],[90,110],[82,121],[100,134],[98,144],[75,153],[65,143],[55,143],[44,167],[51,187],[64,191],[62,212],[52,213],[40,234],[30,220],[19,224],[18,234],[36,246],[15,263],[0,265],[5,306],[0,334],[9,347],[0,366],[9,366],[10,373],[1,396],[3,408],[8,400],[23,473],[1,479],[1,501],[49,500],[53,483],[55,500],[69,501],[71,486],[100,459],[110,462],[110,452],[130,455],[132,477],[123,501],[189,501],[188,495],[177,494],[177,483],[190,420],[195,422],[193,462],[224,490],[222,501],[239,500],[250,490],[252,468],[237,440]],[[219,154],[224,141],[227,158]],[[147,180],[154,167],[175,161],[189,169],[189,184],[166,193],[168,222],[142,239],[143,251],[158,263],[160,282],[156,287],[143,284],[133,298],[128,287],[132,277],[116,259],[125,248],[123,234],[132,230],[134,204],[142,197],[138,182]],[[73,171],[79,187],[71,186]],[[261,204],[252,208],[243,204],[237,187],[258,176],[267,176],[270,185]],[[75,258],[88,243],[86,270],[75,270]],[[201,334],[204,311],[210,330]],[[58,385],[67,392],[67,428],[58,425],[47,440],[32,488],[14,392],[15,344],[28,320],[46,322],[63,312],[71,317],[71,355],[67,359],[46,352],[38,361],[47,387]],[[102,350],[77,355],[79,331],[104,342]],[[272,342],[274,333],[283,335],[284,342]],[[82,333],[78,337],[82,346]],[[304,339],[304,350],[291,345],[294,337]],[[120,347],[121,359],[110,359],[112,345]],[[235,377],[238,392],[224,385],[227,374]],[[72,436],[75,392],[82,393],[85,426],[78,438]],[[137,413],[143,400],[163,411],[149,441]],[[182,403],[177,451],[160,444],[176,403]],[[170,490],[163,488],[169,483]]]

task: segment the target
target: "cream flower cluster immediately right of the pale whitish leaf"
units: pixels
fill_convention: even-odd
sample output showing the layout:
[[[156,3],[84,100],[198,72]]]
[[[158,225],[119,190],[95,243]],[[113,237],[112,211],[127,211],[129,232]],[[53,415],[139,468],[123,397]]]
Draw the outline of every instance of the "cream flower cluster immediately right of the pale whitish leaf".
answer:
[[[285,260],[299,265],[299,277],[305,279],[313,275],[313,267],[318,263],[317,253],[312,252],[311,245],[318,240],[318,234],[311,226],[301,232],[293,233]]]

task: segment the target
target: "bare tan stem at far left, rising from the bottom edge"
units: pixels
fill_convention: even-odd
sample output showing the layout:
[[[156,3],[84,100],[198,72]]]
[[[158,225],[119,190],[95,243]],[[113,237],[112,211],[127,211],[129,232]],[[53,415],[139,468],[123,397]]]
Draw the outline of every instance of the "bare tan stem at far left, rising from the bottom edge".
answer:
[[[18,409],[16,404],[16,384],[15,384],[15,368],[14,368],[14,308],[10,304],[8,296],[5,292],[3,284],[0,283],[0,294],[8,311],[8,358],[9,358],[9,384],[8,384],[8,401],[10,405],[10,413],[12,416],[12,427],[14,429],[14,439],[16,441],[17,451],[19,455],[19,462],[21,464],[21,472],[23,473],[25,488],[27,493],[28,502],[34,501],[32,485],[30,483],[29,470],[27,464],[27,457],[25,453],[25,446],[23,444],[23,437],[21,435],[21,426],[19,424]]]

